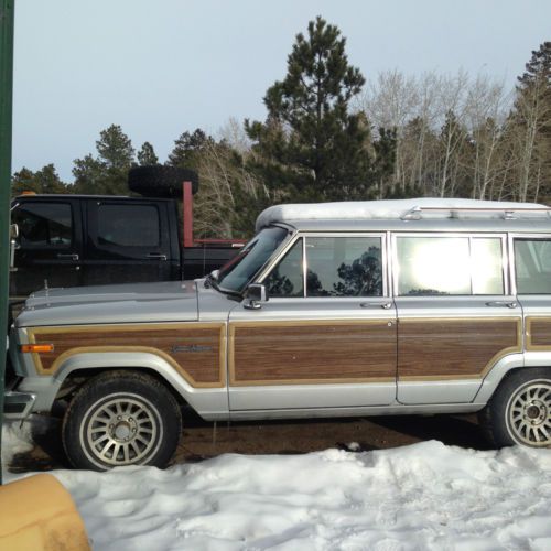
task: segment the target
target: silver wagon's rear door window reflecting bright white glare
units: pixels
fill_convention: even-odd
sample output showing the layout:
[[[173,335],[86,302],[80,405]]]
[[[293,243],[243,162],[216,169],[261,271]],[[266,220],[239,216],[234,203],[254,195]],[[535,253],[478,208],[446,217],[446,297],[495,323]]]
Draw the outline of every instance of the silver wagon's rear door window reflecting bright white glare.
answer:
[[[504,294],[501,239],[397,237],[401,296]]]

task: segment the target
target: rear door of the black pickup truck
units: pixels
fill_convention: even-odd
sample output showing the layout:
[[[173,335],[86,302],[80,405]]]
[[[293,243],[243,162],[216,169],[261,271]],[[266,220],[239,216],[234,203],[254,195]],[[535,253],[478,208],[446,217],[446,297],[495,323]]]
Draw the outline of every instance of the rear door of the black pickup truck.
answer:
[[[86,201],[85,284],[173,279],[165,207],[148,199]]]

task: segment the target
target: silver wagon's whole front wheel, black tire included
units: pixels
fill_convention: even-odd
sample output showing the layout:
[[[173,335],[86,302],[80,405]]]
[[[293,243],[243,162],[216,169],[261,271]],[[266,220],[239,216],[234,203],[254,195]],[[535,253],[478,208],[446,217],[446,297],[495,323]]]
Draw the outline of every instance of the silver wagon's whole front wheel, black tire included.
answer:
[[[182,432],[180,407],[156,379],[129,371],[90,379],[63,421],[63,445],[76,468],[166,466]]]

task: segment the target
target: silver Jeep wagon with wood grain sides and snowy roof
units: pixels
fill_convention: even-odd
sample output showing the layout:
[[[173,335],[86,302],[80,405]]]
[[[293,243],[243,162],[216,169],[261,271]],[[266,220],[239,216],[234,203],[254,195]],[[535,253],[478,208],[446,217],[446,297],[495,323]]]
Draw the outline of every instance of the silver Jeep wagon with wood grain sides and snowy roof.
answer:
[[[68,402],[82,468],[164,465],[206,420],[480,412],[551,445],[551,209],[284,205],[192,282],[44,290],[15,320],[13,417]]]

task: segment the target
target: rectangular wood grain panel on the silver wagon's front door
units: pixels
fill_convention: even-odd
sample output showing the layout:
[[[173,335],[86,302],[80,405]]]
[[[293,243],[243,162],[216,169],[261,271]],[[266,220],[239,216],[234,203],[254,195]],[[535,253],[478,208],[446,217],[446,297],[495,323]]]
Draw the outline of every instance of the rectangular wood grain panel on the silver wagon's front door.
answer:
[[[395,380],[396,324],[290,322],[230,326],[230,383]]]

